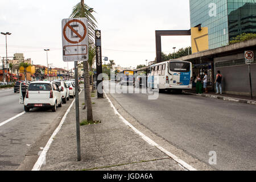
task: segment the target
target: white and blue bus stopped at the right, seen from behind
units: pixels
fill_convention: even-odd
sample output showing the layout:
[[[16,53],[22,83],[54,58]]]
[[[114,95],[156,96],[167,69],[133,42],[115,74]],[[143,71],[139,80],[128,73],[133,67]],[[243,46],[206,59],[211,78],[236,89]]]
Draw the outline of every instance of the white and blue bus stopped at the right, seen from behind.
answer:
[[[170,60],[150,66],[148,73],[150,89],[177,90],[192,89],[192,63],[181,60]]]

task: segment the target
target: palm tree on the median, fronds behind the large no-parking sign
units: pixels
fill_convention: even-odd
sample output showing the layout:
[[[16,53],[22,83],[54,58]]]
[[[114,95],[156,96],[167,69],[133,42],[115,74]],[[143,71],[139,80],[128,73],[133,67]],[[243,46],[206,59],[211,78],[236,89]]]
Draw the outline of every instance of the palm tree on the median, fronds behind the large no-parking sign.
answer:
[[[81,0],[80,3],[77,3],[73,7],[72,14],[70,18],[87,18],[88,19],[88,43],[89,43],[89,60],[84,61],[84,85],[85,85],[85,103],[87,106],[87,121],[93,121],[92,114],[92,98],[90,97],[90,75],[89,75],[89,63],[92,63],[93,57],[95,55],[95,44],[94,44],[94,32],[97,28],[96,19],[92,15],[93,9],[85,5],[84,0]]]

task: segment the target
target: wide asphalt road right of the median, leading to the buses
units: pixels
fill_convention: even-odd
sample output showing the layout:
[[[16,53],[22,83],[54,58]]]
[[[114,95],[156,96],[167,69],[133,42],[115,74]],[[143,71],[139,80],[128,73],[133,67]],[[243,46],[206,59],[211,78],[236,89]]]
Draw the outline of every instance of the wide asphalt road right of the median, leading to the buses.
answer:
[[[209,152],[215,151],[219,170],[256,170],[255,105],[171,93],[159,93],[157,100],[113,90],[111,95],[140,123],[189,155],[209,163]]]

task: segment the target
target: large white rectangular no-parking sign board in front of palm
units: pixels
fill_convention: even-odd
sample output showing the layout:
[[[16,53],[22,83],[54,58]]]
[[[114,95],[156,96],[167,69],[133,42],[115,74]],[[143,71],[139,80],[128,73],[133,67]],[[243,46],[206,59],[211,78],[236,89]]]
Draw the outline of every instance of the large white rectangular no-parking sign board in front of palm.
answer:
[[[67,18],[62,20],[63,61],[88,60],[88,20],[87,18]]]

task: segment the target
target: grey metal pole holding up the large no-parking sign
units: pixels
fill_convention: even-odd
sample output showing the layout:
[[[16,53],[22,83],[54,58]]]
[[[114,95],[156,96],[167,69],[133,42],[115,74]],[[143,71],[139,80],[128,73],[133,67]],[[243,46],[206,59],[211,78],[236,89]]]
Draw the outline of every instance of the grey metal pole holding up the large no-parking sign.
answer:
[[[79,118],[79,81],[77,61],[75,61],[75,94],[76,94],[76,142],[77,142],[77,161],[81,160],[81,146],[80,146],[80,118]]]

